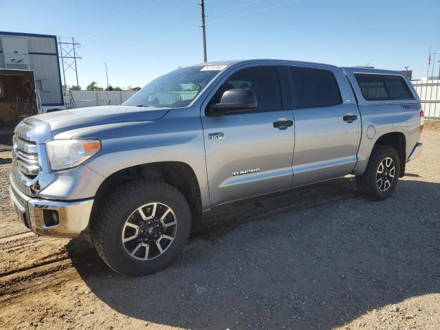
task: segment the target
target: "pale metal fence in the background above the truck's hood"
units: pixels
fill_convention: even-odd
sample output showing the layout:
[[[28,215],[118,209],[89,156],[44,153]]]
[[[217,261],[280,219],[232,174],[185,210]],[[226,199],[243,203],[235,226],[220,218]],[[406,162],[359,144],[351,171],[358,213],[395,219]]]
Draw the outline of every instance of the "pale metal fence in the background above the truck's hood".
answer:
[[[120,105],[135,91],[69,91],[65,94],[67,109],[96,107],[98,105]]]

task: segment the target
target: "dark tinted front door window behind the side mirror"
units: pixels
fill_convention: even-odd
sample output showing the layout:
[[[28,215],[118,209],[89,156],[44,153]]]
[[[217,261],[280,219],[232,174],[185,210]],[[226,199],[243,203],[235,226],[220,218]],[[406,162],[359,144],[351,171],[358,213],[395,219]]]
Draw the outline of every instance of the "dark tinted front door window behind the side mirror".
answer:
[[[219,103],[225,91],[234,88],[253,89],[256,108],[253,111],[283,109],[280,79],[276,67],[248,67],[236,72],[221,85],[211,103]]]

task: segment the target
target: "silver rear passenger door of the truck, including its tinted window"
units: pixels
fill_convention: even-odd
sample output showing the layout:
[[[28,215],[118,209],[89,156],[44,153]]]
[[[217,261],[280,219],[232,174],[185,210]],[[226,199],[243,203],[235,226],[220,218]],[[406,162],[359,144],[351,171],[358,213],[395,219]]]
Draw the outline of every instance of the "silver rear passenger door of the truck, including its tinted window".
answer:
[[[295,118],[293,186],[341,177],[355,167],[361,118],[335,67],[289,66]]]

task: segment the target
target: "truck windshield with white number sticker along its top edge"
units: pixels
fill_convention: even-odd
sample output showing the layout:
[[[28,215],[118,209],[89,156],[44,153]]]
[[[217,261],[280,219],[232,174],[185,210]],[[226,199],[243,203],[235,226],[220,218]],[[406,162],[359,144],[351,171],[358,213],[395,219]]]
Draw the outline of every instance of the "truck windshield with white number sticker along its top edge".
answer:
[[[186,107],[225,65],[182,67],[153,80],[122,105]]]

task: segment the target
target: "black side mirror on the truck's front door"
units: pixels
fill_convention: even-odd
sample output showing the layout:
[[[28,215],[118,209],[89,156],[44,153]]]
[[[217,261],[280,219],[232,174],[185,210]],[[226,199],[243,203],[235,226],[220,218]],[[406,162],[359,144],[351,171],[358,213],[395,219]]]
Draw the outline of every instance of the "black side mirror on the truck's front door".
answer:
[[[220,103],[211,104],[211,111],[223,115],[229,111],[249,110],[256,108],[256,96],[252,89],[233,88],[225,91]]]

